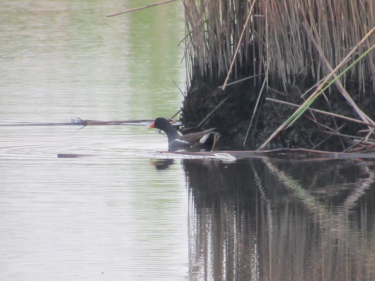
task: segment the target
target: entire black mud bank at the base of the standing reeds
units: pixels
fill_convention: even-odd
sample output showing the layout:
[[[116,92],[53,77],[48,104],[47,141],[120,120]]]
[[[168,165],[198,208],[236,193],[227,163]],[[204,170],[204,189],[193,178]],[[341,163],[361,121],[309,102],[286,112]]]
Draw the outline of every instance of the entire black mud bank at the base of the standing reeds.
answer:
[[[194,130],[216,127],[220,133],[220,142],[236,148],[241,147],[258,98],[259,84],[255,83],[253,79],[253,81],[229,86],[223,91],[207,82],[196,79],[195,82],[191,83],[183,101],[181,121],[184,127],[181,132],[189,133]],[[264,91],[260,109],[255,114],[246,148],[255,149],[262,145],[296,111],[296,108],[266,101],[265,97],[300,105],[304,101],[301,95],[308,88],[309,86],[295,85],[285,91],[280,87],[269,85],[267,91]],[[371,92],[371,89],[368,90]],[[349,85],[347,91],[356,104],[373,119],[374,102],[369,102],[369,99],[359,99],[358,88],[354,84]],[[326,92],[326,97],[324,95],[318,97],[312,108],[359,119],[353,107],[347,103],[341,93],[333,89]],[[200,128],[196,129],[196,126],[224,99],[226,99],[225,102],[210,115]],[[339,128],[341,129],[338,130]],[[292,126],[279,133],[267,148],[343,151],[351,145],[348,142],[349,139],[345,136],[332,135],[332,132],[338,130],[341,135],[359,136],[361,138],[364,134],[358,131],[363,129],[367,129],[367,127],[359,123],[306,111]]]

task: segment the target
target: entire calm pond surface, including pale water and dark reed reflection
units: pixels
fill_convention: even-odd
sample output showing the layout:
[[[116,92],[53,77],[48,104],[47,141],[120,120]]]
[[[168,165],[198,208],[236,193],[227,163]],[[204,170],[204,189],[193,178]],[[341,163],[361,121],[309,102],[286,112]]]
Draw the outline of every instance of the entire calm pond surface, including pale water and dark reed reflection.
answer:
[[[0,123],[181,105],[181,3],[0,6]],[[158,153],[133,126],[0,126],[0,280],[374,280],[374,163]],[[58,153],[85,154],[57,158]]]

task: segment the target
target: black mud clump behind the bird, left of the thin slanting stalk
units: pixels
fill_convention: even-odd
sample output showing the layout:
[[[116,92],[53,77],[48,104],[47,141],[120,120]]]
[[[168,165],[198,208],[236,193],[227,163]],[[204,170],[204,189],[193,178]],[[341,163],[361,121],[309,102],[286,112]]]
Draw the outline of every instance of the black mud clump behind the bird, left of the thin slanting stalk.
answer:
[[[195,81],[183,101],[181,122],[184,128],[181,132],[190,133],[215,127],[220,133],[220,142],[237,146],[245,138],[252,108],[257,101],[254,90],[255,84],[250,81],[229,86],[225,90],[205,81]],[[202,126],[196,128],[212,111]]]

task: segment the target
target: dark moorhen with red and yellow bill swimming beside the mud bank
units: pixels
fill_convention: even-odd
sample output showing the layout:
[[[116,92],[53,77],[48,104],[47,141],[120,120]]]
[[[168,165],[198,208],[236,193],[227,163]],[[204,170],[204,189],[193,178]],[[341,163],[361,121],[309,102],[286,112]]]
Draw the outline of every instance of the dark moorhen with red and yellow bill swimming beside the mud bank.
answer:
[[[213,132],[215,128],[204,130],[202,132],[180,135],[175,127],[163,117],[156,118],[155,121],[148,126],[148,129],[150,128],[159,129],[166,133],[170,150],[204,148],[213,151],[216,142],[219,139],[219,133]]]

